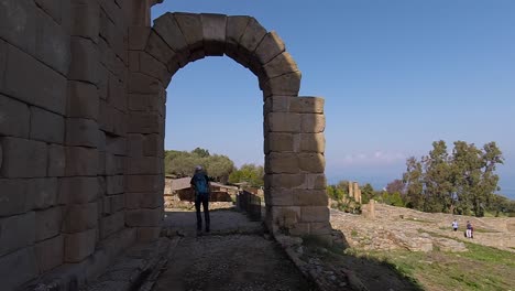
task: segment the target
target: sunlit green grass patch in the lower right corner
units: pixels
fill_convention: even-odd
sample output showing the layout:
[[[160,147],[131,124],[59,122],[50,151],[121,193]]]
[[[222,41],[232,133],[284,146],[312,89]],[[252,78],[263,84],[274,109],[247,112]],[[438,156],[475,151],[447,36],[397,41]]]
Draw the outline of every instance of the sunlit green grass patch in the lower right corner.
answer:
[[[445,237],[445,236],[441,236]],[[359,256],[391,263],[427,290],[509,290],[515,285],[515,254],[465,242],[465,252],[370,251]]]

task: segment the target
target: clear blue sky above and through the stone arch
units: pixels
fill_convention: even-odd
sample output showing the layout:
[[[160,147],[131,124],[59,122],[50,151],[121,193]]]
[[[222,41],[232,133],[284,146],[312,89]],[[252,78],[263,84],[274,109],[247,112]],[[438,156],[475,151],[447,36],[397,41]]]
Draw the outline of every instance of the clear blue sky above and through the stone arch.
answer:
[[[515,198],[515,1],[165,0],[166,11],[253,15],[326,99],[326,174],[384,186],[435,140],[496,141]],[[166,149],[263,163],[262,95],[229,57],[188,64],[168,87]]]

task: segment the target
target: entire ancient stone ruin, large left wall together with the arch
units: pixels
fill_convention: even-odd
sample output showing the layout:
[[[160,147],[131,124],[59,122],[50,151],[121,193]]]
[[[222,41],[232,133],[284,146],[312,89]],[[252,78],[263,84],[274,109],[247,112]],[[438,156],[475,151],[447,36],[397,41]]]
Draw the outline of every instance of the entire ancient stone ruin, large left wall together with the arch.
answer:
[[[227,55],[263,91],[266,225],[330,235],[324,99],[252,17],[166,13],[156,0],[0,0],[0,278],[83,285],[163,219],[165,88]],[[174,106],[168,104],[168,106]]]

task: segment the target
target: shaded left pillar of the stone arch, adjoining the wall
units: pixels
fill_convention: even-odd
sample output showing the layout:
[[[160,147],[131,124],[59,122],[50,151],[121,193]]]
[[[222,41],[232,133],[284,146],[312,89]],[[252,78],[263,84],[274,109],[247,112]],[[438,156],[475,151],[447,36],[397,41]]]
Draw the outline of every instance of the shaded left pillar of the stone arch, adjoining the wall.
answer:
[[[173,51],[145,26],[129,34],[127,225],[140,241],[156,239],[164,206],[165,86]],[[178,67],[177,67],[178,68]]]

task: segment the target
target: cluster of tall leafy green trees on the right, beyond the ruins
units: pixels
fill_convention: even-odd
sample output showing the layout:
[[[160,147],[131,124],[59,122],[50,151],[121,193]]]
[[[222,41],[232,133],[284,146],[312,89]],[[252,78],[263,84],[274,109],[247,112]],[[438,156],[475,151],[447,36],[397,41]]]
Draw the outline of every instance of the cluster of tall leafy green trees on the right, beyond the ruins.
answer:
[[[445,141],[435,141],[432,150],[418,161],[406,161],[403,195],[408,207],[484,216],[498,191],[496,165],[504,162],[495,142],[482,148],[456,141],[449,154]]]

